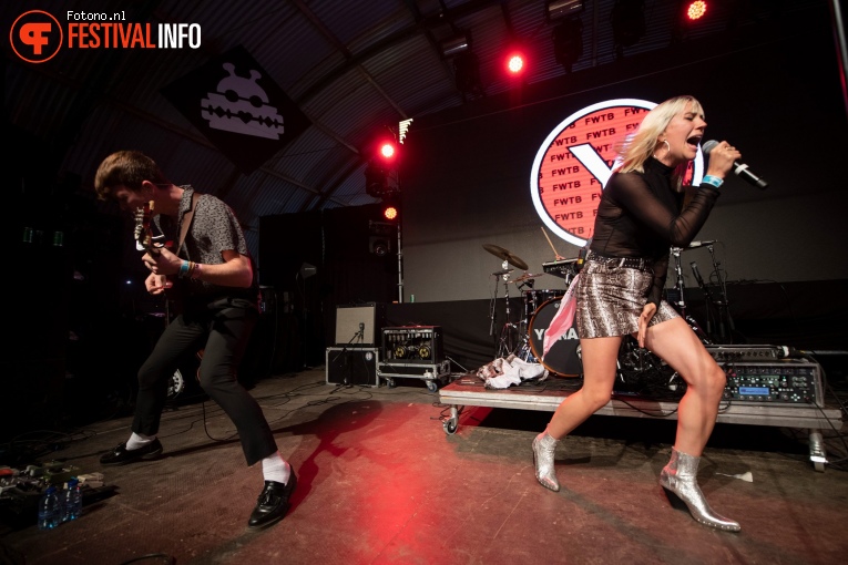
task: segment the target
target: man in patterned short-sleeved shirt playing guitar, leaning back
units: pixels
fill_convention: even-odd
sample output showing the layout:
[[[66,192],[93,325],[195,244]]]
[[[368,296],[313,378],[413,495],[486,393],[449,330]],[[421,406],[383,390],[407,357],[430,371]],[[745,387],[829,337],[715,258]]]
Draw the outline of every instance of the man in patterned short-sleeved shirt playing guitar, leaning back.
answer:
[[[114,198],[122,209],[153,212],[153,223],[175,248],[153,244],[136,229],[151,295],[178,291],[182,311],[165,328],[139,370],[139,393],[132,435],[101,458],[103,465],[155,459],[156,438],[167,394],[167,380],[184,355],[204,350],[200,366],[203,390],[226,412],[242,440],[248,465],[262,461],[265,486],[249,527],[278,522],[288,510],[297,477],[277,450],[256,400],[238,383],[236,369],[258,318],[258,285],[244,233],[221,199],[176,186],[156,163],[136,151],[108,156],[98,168],[94,188],[101,199]],[[149,207],[149,208],[147,208]],[[140,233],[141,232],[141,233]]]

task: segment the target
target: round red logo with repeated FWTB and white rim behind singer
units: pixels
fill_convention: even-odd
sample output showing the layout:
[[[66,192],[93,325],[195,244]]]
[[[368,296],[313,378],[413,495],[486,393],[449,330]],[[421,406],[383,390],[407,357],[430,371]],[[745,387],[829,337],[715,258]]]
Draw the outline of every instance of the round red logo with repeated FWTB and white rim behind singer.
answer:
[[[599,102],[571,114],[548,135],[533,161],[530,194],[539,217],[554,234],[576,246],[592,237],[616,150],[655,105],[636,99]],[[695,176],[702,171],[698,153]]]

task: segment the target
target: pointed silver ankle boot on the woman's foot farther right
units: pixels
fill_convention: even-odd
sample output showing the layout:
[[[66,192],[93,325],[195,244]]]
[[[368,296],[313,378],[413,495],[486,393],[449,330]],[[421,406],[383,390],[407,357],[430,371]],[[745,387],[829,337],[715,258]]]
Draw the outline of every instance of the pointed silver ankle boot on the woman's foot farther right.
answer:
[[[689,510],[689,514],[704,525],[738,532],[738,522],[713,512],[697,483],[701,458],[687,455],[672,448],[672,459],[660,473],[660,485],[666,493],[676,495]],[[670,496],[670,500],[671,496]]]

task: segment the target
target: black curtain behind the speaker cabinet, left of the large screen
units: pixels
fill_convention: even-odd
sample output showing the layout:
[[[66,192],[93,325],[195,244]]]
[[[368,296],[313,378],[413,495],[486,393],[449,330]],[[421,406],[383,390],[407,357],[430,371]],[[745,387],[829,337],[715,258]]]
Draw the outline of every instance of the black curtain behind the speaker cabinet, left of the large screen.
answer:
[[[397,255],[370,253],[369,220],[381,210],[372,204],[260,218],[259,281],[275,297],[277,370],[324,364],[337,306],[397,300]],[[303,277],[304,265],[315,275]]]

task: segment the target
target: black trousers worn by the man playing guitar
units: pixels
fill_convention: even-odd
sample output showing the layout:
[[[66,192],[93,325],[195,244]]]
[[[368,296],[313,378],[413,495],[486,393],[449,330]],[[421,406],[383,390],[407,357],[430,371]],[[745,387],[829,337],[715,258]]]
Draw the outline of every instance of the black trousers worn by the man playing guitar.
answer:
[[[275,453],[277,444],[265,414],[236,378],[236,369],[258,317],[252,308],[225,307],[184,314],[168,323],[139,370],[132,430],[144,435],[159,433],[168,378],[184,355],[203,348],[201,387],[235,424],[247,464],[253,465]]]

